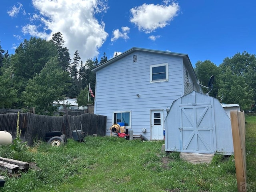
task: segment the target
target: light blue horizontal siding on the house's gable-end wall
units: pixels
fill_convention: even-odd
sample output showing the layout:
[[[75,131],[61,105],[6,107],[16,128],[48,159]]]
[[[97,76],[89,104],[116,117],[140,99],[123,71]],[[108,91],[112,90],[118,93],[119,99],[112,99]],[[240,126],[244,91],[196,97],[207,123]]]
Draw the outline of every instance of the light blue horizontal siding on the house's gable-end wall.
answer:
[[[133,63],[133,55],[138,62]],[[168,81],[150,83],[150,65],[168,63]],[[184,93],[181,57],[136,51],[97,71],[95,113],[107,116],[107,135],[110,135],[112,114],[131,111],[134,134],[150,139],[150,110],[170,108]],[[140,97],[137,98],[136,94]]]

